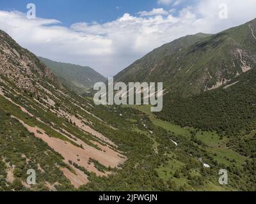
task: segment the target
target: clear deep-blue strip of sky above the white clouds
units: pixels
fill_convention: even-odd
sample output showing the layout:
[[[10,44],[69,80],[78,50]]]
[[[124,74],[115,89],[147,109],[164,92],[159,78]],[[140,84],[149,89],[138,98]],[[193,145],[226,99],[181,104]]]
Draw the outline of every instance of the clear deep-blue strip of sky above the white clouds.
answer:
[[[0,9],[26,13],[28,3],[36,4],[38,16],[58,19],[65,26],[76,22],[109,22],[122,17],[124,13],[136,15],[139,11],[149,11],[152,8],[161,7],[165,10],[173,8],[172,4],[159,4],[156,0],[1,0]],[[176,8],[183,6],[180,4]]]

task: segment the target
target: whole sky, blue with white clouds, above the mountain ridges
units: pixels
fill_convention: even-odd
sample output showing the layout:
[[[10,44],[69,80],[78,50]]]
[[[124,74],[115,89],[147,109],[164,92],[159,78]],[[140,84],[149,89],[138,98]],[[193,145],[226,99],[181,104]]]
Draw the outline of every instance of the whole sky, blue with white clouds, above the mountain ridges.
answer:
[[[38,56],[112,77],[164,43],[248,22],[255,8],[255,0],[1,0],[0,29]]]

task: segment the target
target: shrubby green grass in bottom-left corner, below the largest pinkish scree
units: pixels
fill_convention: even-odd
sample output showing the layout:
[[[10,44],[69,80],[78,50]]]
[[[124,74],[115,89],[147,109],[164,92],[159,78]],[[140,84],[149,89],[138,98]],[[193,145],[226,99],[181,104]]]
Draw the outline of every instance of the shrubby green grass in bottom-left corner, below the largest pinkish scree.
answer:
[[[26,182],[28,177],[26,174],[28,169],[36,171],[36,185],[32,185],[31,189],[16,186],[14,182],[6,185],[3,179],[0,182],[0,191],[12,191],[13,189],[17,191],[48,191],[45,182],[49,182],[49,184],[58,182],[67,191],[74,190],[74,187],[71,186],[58,167],[67,167],[59,154],[56,154],[47,143],[29,133],[20,122],[6,113],[2,106],[0,108],[0,118],[0,179],[2,179],[1,175],[3,175],[3,178],[6,177],[7,163],[15,166],[14,177],[16,180],[23,182]],[[22,154],[29,159],[28,162],[22,157]],[[44,172],[38,170],[38,164],[44,169]]]

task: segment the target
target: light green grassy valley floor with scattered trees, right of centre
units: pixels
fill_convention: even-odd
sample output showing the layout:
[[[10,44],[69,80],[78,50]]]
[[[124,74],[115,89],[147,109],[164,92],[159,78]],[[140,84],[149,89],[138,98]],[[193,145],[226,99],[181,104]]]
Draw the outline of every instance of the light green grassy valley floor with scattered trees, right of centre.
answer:
[[[163,121],[161,119],[157,119],[157,117],[150,112],[150,106],[131,106],[136,110],[140,110],[148,115],[150,121],[155,126],[159,128],[163,128],[164,130],[168,131],[175,135],[175,138],[183,138],[184,140],[192,141],[195,143],[196,148],[204,150],[204,156],[212,157],[216,163],[220,166],[225,166],[225,168],[230,168],[230,166],[235,166],[237,169],[243,169],[243,165],[246,164],[246,161],[251,160],[248,157],[241,156],[241,154],[237,153],[235,150],[228,147],[228,142],[230,142],[230,138],[222,138],[216,132],[210,131],[200,131],[198,129],[185,127],[182,128],[179,125],[172,124],[171,122]],[[150,135],[146,133],[147,135]],[[255,131],[250,133],[248,137],[252,137],[255,135]],[[193,138],[192,138],[193,136]],[[212,180],[209,178],[205,178],[205,181],[202,182],[204,185],[199,185],[195,188],[192,187],[190,184],[193,183],[193,177],[195,179],[196,176],[202,176],[202,169],[200,168],[193,168],[191,170],[187,169],[187,172],[184,173],[184,166],[186,166],[186,162],[182,161],[182,159],[177,159],[177,152],[180,152],[182,147],[179,147],[179,142],[175,142],[177,140],[173,139],[172,142],[176,145],[176,149],[172,152],[168,153],[168,160],[165,161],[157,168],[157,173],[159,177],[164,180],[164,182],[174,182],[177,186],[186,186],[190,190],[196,191],[237,191],[239,187],[234,189],[229,185],[221,186],[218,184],[218,179],[220,175],[218,171],[215,171],[215,174],[212,175]],[[154,148],[157,149],[157,145],[155,144]],[[198,157],[192,154],[187,154],[186,157],[190,157],[191,160],[199,160],[202,162],[202,166],[205,165],[204,163],[204,156]],[[213,165],[211,166],[212,168]],[[205,168],[205,167],[204,167]],[[207,170],[205,168],[205,170]],[[202,177],[204,180],[204,177]],[[230,179],[230,182],[232,180]],[[241,186],[240,186],[241,187]]]

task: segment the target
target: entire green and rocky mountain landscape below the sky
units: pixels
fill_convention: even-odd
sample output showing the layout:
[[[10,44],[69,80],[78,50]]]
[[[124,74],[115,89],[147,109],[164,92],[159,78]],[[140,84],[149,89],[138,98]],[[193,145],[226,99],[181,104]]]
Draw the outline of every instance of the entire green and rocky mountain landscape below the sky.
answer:
[[[39,59],[0,31],[0,191],[255,191],[255,33],[252,20],[185,36],[118,73],[164,82],[153,114],[96,106],[77,92],[104,77]]]

